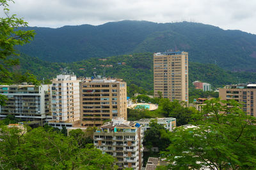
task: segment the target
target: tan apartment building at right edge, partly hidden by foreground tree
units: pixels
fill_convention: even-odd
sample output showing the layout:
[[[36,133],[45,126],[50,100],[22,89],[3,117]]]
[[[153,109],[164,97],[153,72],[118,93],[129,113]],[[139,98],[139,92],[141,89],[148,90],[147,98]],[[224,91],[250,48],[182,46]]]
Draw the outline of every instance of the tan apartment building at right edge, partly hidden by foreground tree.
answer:
[[[256,84],[226,85],[219,89],[219,97],[221,100],[243,102],[243,111],[256,117]]]

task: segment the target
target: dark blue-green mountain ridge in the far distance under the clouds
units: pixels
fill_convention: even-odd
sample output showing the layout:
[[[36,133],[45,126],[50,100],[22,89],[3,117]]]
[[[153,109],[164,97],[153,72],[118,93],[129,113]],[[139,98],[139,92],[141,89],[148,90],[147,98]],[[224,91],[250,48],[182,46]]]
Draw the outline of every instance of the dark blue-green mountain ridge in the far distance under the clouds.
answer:
[[[52,62],[172,49],[189,52],[193,62],[216,63],[232,71],[256,71],[256,35],[212,25],[124,20],[97,26],[26,29],[35,30],[35,40],[19,50]]]

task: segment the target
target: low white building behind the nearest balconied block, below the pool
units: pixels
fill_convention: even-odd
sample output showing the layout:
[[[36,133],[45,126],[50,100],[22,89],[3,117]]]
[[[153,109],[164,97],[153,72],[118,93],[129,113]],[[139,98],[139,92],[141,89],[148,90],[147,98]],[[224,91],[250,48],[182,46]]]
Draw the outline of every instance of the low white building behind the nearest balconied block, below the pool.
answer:
[[[157,124],[163,125],[167,131],[172,131],[173,127],[176,127],[176,118],[168,117],[168,118],[141,118],[140,120],[134,121],[141,125],[142,132],[150,129],[151,120],[157,120]]]

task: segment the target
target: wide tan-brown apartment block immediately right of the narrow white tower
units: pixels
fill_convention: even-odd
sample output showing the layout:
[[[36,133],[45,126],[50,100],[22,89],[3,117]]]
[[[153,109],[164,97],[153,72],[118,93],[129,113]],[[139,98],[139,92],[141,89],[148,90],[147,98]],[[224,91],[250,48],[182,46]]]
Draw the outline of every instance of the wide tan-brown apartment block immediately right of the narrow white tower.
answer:
[[[127,120],[127,89],[122,79],[99,78],[80,83],[81,126],[101,126],[115,117]]]

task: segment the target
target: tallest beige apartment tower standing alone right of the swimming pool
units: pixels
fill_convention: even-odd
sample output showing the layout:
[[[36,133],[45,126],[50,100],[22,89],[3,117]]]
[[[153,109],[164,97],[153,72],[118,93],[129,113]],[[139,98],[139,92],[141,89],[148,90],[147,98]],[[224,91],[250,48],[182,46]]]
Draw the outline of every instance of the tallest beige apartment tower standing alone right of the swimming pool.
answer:
[[[188,52],[154,53],[154,97],[159,92],[188,106]]]

